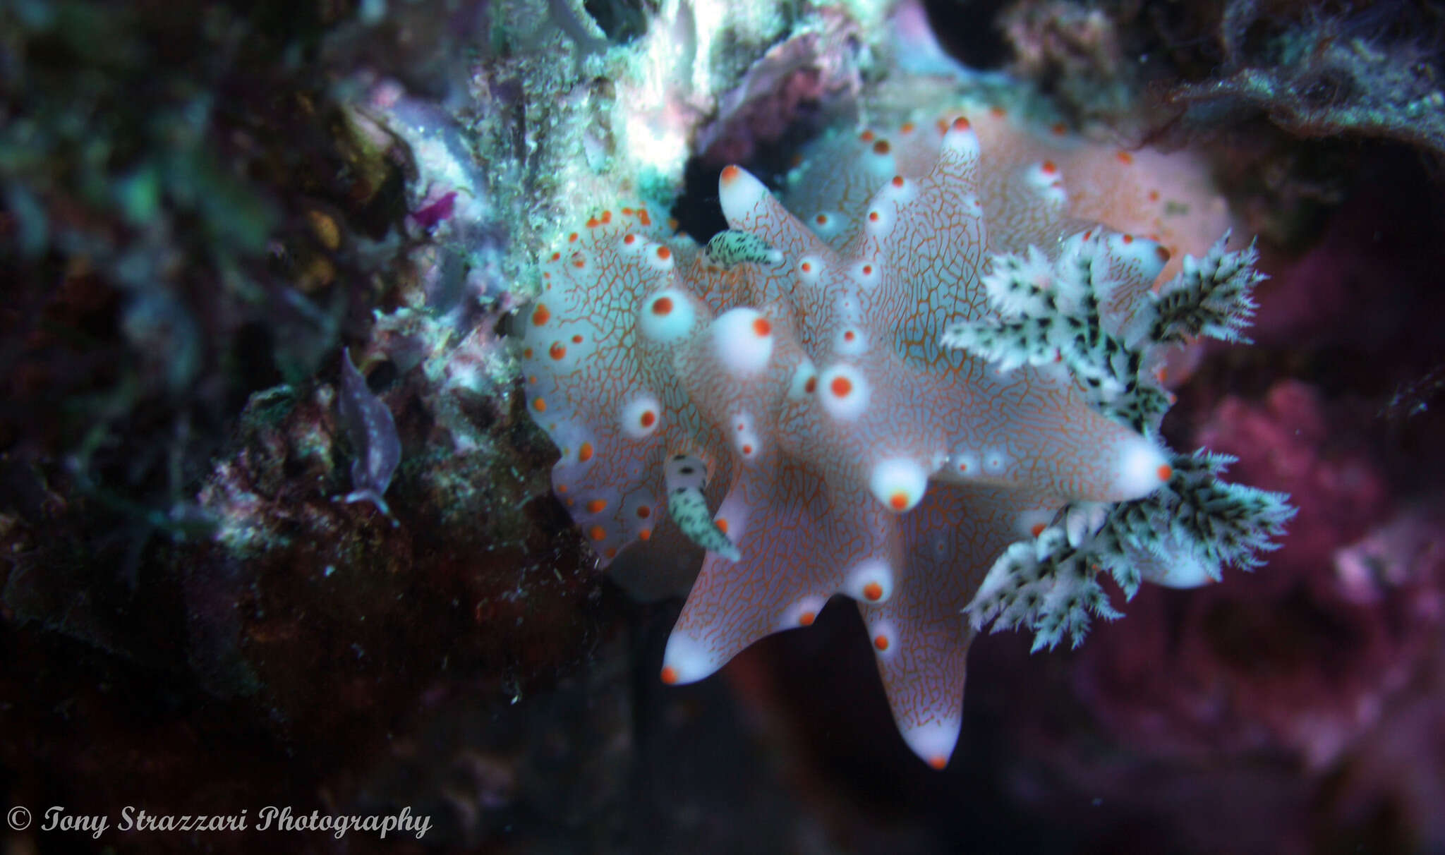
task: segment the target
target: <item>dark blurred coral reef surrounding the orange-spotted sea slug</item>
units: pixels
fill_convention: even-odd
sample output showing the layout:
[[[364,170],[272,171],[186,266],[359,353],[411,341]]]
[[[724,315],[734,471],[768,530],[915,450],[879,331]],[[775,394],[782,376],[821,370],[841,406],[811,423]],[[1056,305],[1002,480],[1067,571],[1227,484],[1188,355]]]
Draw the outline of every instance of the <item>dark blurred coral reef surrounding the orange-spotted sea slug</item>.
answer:
[[[1406,1],[0,1],[4,806],[434,823],[6,852],[1445,851],[1442,33]],[[1211,157],[1273,279],[1165,433],[1300,510],[1077,651],[981,640],[939,774],[847,609],[656,682],[679,604],[594,572],[504,337],[591,199],[705,238],[725,163],[776,182],[959,62]]]

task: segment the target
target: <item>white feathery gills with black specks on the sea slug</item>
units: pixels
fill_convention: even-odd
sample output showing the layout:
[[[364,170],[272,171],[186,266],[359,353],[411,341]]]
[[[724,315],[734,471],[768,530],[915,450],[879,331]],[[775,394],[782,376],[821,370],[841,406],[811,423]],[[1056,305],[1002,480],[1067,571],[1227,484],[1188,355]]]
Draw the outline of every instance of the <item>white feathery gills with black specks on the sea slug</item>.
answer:
[[[1159,293],[1120,282],[1101,263],[1105,235],[1061,241],[1055,260],[1030,247],[996,256],[984,279],[997,316],[955,324],[944,344],[1000,370],[1061,363],[1104,415],[1156,435],[1172,403],[1152,367],[1168,345],[1195,337],[1247,341],[1253,287],[1264,279],[1250,246],[1225,251],[1228,234]],[[1137,293],[1129,295],[1127,290]],[[1105,309],[1111,306],[1111,309]],[[965,612],[975,628],[1027,627],[1033,648],[1065,635],[1078,646],[1091,617],[1120,612],[1098,583],[1107,572],[1133,598],[1140,581],[1191,588],[1218,581],[1224,565],[1253,569],[1295,516],[1289,497],[1220,479],[1234,462],[1205,449],[1172,453],[1169,481],[1116,504],[1072,504],[1032,540],[994,562]]]

